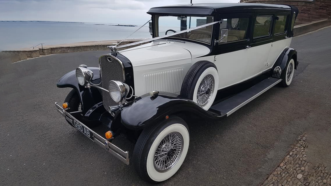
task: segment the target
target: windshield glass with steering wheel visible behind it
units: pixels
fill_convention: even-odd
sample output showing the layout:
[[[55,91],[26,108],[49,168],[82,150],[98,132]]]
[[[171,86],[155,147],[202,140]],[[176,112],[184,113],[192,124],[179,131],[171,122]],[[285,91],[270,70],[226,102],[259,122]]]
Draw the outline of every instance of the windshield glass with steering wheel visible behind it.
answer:
[[[156,16],[155,37],[165,36],[174,32],[194,28],[207,23],[212,23],[212,16]],[[186,38],[211,44],[213,25],[191,30],[189,32],[173,35],[174,38]]]

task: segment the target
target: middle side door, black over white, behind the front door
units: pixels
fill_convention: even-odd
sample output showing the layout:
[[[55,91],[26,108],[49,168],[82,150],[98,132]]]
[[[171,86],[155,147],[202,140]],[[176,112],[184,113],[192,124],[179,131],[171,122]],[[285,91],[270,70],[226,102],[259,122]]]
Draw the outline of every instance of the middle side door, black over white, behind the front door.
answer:
[[[252,39],[248,49],[244,80],[261,74],[268,66],[268,56],[272,42],[274,16],[256,14],[253,21]]]

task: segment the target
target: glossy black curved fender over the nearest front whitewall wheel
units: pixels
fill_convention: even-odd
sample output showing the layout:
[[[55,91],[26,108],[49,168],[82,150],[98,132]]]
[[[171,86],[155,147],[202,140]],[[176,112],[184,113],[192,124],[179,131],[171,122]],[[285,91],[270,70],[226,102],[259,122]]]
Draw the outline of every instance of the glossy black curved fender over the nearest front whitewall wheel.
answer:
[[[121,122],[128,129],[139,130],[161,122],[167,115],[178,113],[208,118],[223,116],[220,113],[205,111],[191,100],[165,94],[155,95],[154,97],[144,94],[122,108]]]

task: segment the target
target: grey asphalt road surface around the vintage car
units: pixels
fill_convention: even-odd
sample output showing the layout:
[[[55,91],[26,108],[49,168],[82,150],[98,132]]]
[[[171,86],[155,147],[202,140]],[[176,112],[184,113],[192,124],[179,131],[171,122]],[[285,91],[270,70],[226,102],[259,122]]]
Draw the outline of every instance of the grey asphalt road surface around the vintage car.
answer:
[[[300,66],[290,87],[273,87],[231,116],[189,123],[179,171],[160,185],[258,185],[303,132],[308,161],[331,166],[331,27],[295,37]],[[106,51],[0,62],[0,185],[145,185],[125,165],[67,124],[55,110],[69,88],[58,79]],[[115,144],[130,151],[124,138]]]

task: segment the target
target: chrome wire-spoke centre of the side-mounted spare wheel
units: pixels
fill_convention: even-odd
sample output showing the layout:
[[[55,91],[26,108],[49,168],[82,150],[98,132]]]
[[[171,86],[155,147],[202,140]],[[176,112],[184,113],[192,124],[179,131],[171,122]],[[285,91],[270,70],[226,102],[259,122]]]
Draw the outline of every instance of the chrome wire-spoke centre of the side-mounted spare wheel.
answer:
[[[198,87],[197,103],[200,106],[205,106],[212,98],[215,79],[212,75],[206,75]]]

